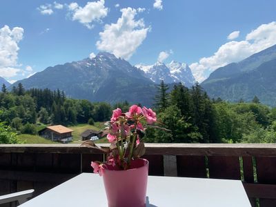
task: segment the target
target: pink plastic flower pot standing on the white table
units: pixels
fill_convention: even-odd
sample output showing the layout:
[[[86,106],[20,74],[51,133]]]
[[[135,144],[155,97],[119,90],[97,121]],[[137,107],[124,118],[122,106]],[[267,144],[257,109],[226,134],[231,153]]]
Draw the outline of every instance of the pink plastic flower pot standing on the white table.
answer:
[[[145,207],[148,160],[133,160],[129,170],[106,166],[103,183],[109,207]]]

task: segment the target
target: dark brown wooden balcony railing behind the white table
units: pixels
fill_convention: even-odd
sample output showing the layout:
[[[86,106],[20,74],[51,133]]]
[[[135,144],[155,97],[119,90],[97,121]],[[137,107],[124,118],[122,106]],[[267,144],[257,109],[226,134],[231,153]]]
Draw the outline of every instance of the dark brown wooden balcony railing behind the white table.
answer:
[[[150,175],[241,179],[252,206],[276,206],[276,144],[146,144],[144,157]],[[92,160],[103,155],[78,144],[0,145],[0,195],[30,188],[39,195],[92,172]]]

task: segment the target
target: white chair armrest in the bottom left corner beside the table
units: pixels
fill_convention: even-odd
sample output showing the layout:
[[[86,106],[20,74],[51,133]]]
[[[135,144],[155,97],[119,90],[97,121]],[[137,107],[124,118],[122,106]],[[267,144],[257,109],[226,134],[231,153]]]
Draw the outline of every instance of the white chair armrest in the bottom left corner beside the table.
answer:
[[[0,196],[0,204],[10,203],[12,201],[18,201],[19,205],[28,201],[28,198],[32,197],[32,193],[34,193],[34,189],[31,190],[23,190],[17,193],[10,193],[7,195]]]

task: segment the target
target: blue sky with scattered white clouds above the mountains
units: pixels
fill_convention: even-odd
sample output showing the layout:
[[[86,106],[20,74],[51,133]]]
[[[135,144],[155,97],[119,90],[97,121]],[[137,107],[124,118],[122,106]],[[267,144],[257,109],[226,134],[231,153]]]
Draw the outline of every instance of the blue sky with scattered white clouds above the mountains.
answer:
[[[103,50],[133,65],[185,62],[202,81],[274,45],[275,10],[275,0],[2,0],[0,76],[22,79]]]

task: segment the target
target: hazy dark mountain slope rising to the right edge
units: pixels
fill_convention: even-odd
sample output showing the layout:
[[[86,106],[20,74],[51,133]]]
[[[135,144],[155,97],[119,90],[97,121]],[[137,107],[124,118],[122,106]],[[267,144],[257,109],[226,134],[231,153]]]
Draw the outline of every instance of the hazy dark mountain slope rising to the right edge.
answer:
[[[218,68],[201,83],[212,98],[251,101],[276,106],[276,45],[250,57]]]

